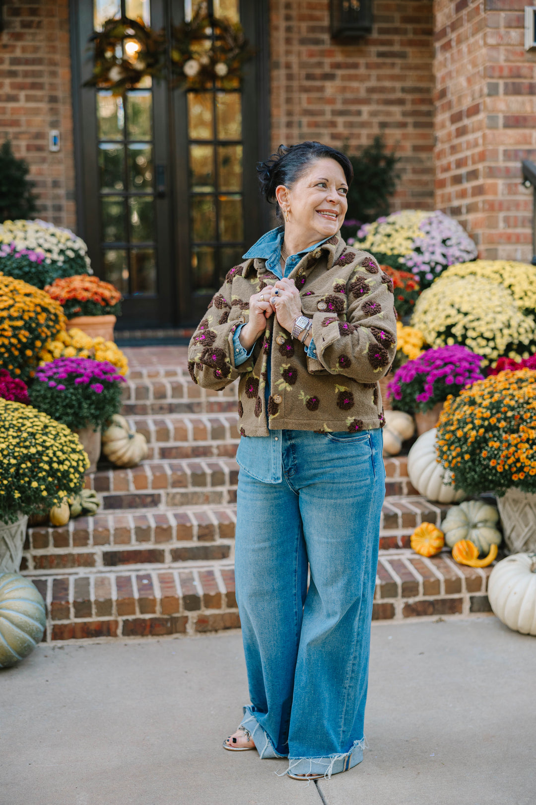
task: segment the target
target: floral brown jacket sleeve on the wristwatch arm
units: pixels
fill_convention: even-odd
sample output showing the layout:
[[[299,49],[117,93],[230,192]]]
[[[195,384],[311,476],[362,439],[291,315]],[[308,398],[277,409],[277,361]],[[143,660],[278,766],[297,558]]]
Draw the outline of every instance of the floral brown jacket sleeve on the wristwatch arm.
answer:
[[[329,300],[332,297],[329,297]],[[342,295],[333,296],[333,312],[313,313],[317,360],[308,357],[311,374],[342,374],[374,383],[389,371],[396,354],[396,312],[392,280],[368,254],[356,255],[346,285],[346,320],[337,316]]]

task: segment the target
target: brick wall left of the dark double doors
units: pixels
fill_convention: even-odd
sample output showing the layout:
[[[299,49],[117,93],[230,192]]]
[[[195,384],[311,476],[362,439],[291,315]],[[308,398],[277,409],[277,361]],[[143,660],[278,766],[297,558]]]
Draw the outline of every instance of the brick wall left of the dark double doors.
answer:
[[[0,142],[30,165],[39,217],[74,228],[68,0],[4,0],[0,32]],[[59,129],[61,148],[48,150]]]

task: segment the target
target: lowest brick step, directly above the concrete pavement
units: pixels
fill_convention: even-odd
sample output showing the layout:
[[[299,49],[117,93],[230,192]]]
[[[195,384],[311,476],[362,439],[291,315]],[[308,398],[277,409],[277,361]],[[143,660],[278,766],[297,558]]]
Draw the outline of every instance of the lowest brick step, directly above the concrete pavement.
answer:
[[[372,617],[403,621],[490,612],[489,572],[491,568],[464,568],[448,552],[424,559],[410,551],[383,551]],[[24,575],[47,604],[47,642],[194,634],[239,626],[231,564]]]

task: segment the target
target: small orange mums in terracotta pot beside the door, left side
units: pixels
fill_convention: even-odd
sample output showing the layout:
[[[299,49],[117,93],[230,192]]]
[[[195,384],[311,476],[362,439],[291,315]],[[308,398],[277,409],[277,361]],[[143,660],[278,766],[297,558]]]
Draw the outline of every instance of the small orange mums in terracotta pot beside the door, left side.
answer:
[[[55,279],[45,287],[68,317],[68,328],[76,327],[95,338],[113,341],[113,328],[121,316],[121,293],[112,283],[88,274]]]

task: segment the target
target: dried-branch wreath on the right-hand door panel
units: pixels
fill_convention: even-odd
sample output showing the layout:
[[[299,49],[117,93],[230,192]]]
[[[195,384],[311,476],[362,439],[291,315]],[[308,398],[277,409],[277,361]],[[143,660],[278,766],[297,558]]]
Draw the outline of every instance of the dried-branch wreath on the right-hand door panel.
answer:
[[[255,55],[239,23],[209,16],[201,3],[190,22],[172,28],[171,72],[186,89],[235,89],[242,65]]]

